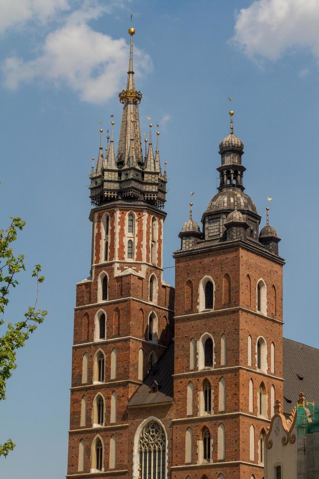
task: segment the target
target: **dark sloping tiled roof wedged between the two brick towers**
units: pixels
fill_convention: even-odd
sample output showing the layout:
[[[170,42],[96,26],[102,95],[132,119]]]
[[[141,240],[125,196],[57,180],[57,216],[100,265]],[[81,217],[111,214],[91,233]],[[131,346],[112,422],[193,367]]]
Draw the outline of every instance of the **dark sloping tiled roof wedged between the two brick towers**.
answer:
[[[174,372],[174,342],[166,349],[145,377],[143,384],[133,394],[128,406],[142,404],[157,404],[173,401],[173,372]],[[158,392],[151,392],[151,386],[156,381],[159,385]]]

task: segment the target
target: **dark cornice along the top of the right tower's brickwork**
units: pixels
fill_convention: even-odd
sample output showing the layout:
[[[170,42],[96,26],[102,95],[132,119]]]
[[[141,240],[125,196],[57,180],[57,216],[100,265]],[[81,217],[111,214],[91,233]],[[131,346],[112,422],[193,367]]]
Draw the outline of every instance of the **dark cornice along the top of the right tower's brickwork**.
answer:
[[[228,248],[244,248],[248,251],[251,251],[252,253],[256,253],[260,256],[263,256],[267,258],[268,260],[274,261],[275,263],[278,263],[281,265],[285,264],[285,260],[283,258],[281,258],[280,256],[273,255],[267,249],[259,246],[258,243],[255,244],[253,242],[248,242],[243,240],[225,241],[222,243],[210,244],[206,246],[205,246],[205,242],[203,242],[201,248],[188,249],[185,251],[182,251],[182,250],[175,251],[173,253],[173,258],[181,258],[184,256],[198,255],[201,253],[208,253],[209,251],[217,251],[220,249],[228,249]]]

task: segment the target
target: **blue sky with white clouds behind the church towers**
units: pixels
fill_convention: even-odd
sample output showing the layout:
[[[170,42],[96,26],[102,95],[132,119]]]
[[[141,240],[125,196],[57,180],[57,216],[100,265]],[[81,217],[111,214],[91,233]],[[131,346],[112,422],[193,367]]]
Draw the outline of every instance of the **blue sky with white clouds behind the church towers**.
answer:
[[[32,304],[32,265],[46,276],[45,323],[18,354],[0,404],[0,442],[16,450],[0,460],[5,479],[62,478],[67,430],[75,283],[88,276],[91,223],[88,172],[125,86],[129,15],[134,12],[136,86],[142,131],[160,124],[160,156],[169,177],[164,266],[173,266],[178,233],[216,192],[219,141],[245,144],[244,185],[265,223],[281,237],[284,334],[319,347],[318,62],[319,4],[311,0],[72,1],[0,4],[1,227],[27,225],[16,245],[29,270],[11,295],[6,319]],[[174,283],[174,269],[165,270]]]

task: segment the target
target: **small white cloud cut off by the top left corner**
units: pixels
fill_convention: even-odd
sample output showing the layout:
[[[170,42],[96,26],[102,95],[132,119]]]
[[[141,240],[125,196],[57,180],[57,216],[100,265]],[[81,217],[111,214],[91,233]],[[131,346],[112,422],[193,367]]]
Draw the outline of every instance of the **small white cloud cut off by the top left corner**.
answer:
[[[0,0],[0,33],[30,21],[47,22],[70,8],[68,0]]]

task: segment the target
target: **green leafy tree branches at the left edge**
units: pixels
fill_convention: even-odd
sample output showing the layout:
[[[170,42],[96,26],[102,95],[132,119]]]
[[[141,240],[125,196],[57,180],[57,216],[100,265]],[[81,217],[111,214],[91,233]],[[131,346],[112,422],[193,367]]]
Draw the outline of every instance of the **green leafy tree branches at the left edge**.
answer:
[[[14,255],[12,243],[18,238],[18,231],[25,226],[25,221],[16,217],[11,218],[11,224],[7,229],[0,230],[0,326],[4,325],[4,310],[9,304],[9,293],[17,287],[17,279],[20,271],[25,271],[24,255]],[[32,271],[32,277],[36,278],[37,294],[35,304],[29,306],[24,313],[22,321],[8,323],[3,334],[0,334],[0,401],[5,399],[6,383],[11,377],[12,371],[17,368],[17,349],[25,345],[30,334],[43,322],[47,311],[38,309],[39,284],[44,281],[40,275],[41,266],[36,264]],[[0,457],[6,457],[15,447],[11,439],[0,444]]]

